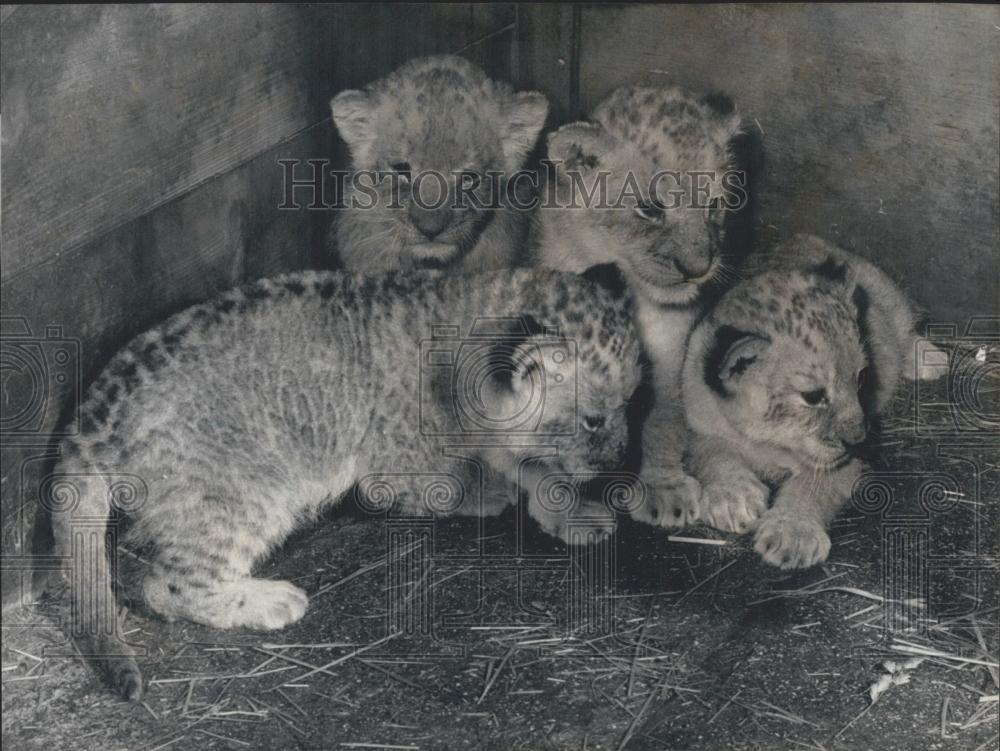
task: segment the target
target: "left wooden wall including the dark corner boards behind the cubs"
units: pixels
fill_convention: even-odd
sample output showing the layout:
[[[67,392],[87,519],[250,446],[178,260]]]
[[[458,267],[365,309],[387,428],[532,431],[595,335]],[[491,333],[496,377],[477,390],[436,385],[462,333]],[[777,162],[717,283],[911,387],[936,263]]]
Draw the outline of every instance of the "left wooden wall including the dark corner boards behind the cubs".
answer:
[[[510,5],[22,6],[0,26],[3,334],[60,327],[86,382],[125,341],[233,284],[323,266],[329,211],[279,210],[279,159],[344,151],[339,90],[417,54],[511,70]],[[19,340],[20,341],[20,340]],[[7,356],[20,345],[7,339]],[[44,349],[43,345],[43,349]],[[27,461],[78,387],[4,372],[5,565],[32,552]],[[45,393],[43,393],[43,390]],[[34,402],[32,402],[34,400]],[[18,433],[13,435],[13,433]],[[30,468],[22,477],[21,467]],[[34,475],[32,474],[34,473]],[[18,577],[4,575],[5,603]]]

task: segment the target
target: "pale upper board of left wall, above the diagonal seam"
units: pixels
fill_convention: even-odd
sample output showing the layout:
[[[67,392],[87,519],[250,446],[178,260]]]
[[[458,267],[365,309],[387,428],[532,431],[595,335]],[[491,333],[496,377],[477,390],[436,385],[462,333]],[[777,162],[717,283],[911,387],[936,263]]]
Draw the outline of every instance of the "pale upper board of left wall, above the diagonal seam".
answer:
[[[2,36],[3,246],[15,278],[316,121],[302,8],[24,7]]]

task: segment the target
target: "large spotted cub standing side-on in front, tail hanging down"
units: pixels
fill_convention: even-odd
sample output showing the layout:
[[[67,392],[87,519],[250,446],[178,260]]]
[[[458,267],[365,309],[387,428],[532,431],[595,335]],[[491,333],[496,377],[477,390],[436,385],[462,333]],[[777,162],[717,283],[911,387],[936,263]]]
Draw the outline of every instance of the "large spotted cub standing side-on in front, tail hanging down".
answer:
[[[149,606],[216,628],[302,617],[306,593],[254,578],[253,566],[355,483],[363,502],[384,505],[379,477],[391,478],[405,513],[496,513],[475,499],[488,474],[524,487],[529,513],[559,534],[565,514],[534,500],[538,478],[586,478],[623,458],[639,380],[630,305],[556,272],[305,272],[142,334],[90,387],[53,474],[74,633],[92,637],[91,654],[122,648],[103,540],[79,545],[112,511],[155,547],[142,587]],[[532,441],[545,444],[544,458]],[[450,505],[428,489],[428,473],[447,485]],[[144,498],[126,503],[115,492],[122,478]],[[106,662],[121,693],[137,698],[135,661]]]

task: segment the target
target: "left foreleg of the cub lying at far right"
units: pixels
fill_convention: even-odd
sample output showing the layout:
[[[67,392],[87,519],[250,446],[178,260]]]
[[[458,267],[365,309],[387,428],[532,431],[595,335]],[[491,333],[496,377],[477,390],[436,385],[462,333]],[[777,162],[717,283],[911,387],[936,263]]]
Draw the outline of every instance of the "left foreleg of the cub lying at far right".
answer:
[[[767,511],[770,489],[726,441],[695,436],[691,466],[702,482],[701,520],[723,532],[749,532]]]

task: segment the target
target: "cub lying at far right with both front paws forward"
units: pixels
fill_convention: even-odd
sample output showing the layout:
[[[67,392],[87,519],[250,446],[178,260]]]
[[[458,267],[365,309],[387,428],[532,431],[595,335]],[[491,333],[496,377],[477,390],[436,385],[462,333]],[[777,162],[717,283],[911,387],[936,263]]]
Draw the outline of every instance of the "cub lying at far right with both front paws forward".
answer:
[[[698,324],[684,364],[703,519],[755,530],[774,566],[826,560],[869,418],[900,376],[935,375],[917,367],[916,339],[912,308],[871,263],[808,235],[765,257]]]

